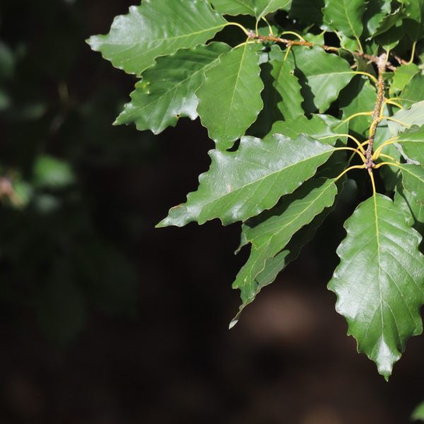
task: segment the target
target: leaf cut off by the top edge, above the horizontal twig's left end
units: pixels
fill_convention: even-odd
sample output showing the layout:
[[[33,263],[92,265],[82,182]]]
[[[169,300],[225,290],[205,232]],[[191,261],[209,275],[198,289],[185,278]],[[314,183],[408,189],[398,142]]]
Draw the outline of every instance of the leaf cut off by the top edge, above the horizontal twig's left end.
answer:
[[[259,20],[267,13],[278,11],[291,0],[211,0],[216,11],[225,15],[252,15]]]

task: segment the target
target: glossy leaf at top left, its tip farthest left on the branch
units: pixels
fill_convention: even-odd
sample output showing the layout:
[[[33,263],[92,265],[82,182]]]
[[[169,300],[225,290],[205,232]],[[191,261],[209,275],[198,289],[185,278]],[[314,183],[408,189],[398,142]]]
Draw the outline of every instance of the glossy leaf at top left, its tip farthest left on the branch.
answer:
[[[156,57],[204,44],[226,23],[206,0],[144,0],[117,16],[108,35],[90,37],[88,44],[116,68],[139,75]]]

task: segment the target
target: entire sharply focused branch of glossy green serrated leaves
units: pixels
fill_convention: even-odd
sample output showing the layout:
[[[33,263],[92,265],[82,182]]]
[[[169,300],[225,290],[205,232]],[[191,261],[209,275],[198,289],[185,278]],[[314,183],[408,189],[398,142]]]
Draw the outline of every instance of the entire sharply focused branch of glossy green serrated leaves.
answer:
[[[158,227],[242,223],[250,255],[231,326],[314,237],[346,178],[368,187],[329,289],[385,378],[423,327],[423,10],[413,0],[144,0],[88,41],[141,76],[117,124],[157,134],[199,116],[215,141],[199,188]]]

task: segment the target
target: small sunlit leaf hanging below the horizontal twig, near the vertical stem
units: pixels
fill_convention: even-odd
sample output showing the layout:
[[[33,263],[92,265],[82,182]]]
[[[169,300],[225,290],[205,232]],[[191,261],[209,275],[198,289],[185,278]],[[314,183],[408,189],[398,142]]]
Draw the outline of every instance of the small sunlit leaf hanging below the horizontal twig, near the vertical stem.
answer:
[[[328,54],[321,47],[293,47],[292,52],[303,87],[305,110],[325,112],[353,78],[351,66],[345,59]]]

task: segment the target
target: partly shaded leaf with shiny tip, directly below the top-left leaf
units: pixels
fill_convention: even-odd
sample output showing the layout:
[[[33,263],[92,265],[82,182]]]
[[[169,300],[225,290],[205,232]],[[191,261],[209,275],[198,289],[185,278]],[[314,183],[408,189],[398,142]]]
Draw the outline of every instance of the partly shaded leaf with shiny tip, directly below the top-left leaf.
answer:
[[[150,129],[159,134],[167,126],[175,126],[179,117],[196,119],[199,100],[194,93],[204,82],[205,72],[217,63],[220,54],[229,50],[225,43],[212,42],[159,57],[154,66],[144,71],[143,79],[131,93],[131,102],[115,124],[134,122],[139,130]]]

